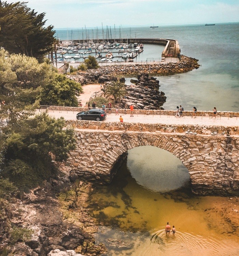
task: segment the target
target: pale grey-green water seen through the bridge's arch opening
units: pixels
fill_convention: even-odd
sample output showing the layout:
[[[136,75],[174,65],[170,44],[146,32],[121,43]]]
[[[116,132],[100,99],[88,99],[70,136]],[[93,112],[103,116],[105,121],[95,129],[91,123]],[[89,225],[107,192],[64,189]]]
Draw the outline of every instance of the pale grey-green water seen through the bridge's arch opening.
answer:
[[[184,187],[190,180],[187,168],[176,156],[153,146],[129,150],[127,168],[139,185],[155,192]]]

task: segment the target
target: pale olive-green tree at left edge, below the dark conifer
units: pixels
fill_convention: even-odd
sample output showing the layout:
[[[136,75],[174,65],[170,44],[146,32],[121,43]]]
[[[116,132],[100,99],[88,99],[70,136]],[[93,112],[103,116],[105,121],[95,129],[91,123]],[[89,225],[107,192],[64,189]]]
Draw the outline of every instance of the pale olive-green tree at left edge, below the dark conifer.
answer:
[[[34,113],[41,87],[54,76],[54,69],[46,63],[0,50],[0,101],[5,101],[0,108],[1,117],[8,118],[11,124]]]

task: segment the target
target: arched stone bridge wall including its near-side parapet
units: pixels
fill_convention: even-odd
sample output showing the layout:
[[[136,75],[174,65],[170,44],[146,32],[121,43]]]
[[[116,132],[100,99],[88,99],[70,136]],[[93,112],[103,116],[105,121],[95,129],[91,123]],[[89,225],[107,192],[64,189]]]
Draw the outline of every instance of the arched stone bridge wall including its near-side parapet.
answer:
[[[239,191],[239,128],[67,121],[77,146],[68,165],[79,176],[110,182],[115,164],[129,149],[151,145],[177,156],[187,167],[195,193]],[[188,131],[189,129],[189,131]],[[213,134],[212,134],[213,133]]]

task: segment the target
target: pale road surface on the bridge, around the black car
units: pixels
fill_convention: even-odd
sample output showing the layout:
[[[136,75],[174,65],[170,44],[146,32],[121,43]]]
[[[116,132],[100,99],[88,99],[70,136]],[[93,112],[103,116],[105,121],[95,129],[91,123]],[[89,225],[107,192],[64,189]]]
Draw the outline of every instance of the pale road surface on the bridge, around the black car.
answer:
[[[42,110],[45,111],[45,110]],[[38,111],[39,113],[39,111]],[[76,120],[76,114],[73,111],[52,111],[48,110],[48,114],[52,117],[64,117],[67,120]],[[236,117],[221,117],[221,119],[200,117],[192,118],[191,116],[178,117],[167,115],[134,115],[130,117],[129,114],[123,115],[124,122],[127,123],[144,123],[144,124],[168,124],[168,125],[216,125],[216,126],[238,126],[239,118]],[[119,115],[108,114],[103,122],[118,122]]]

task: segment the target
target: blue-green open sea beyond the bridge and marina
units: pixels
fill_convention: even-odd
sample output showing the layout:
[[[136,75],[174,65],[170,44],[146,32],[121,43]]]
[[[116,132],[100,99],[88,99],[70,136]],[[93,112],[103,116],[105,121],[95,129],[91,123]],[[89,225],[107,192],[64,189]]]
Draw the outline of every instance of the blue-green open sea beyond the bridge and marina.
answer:
[[[108,33],[109,31],[109,33]],[[197,70],[184,74],[154,76],[159,79],[160,91],[167,97],[165,109],[239,111],[239,23],[215,26],[182,25],[150,27],[104,28],[104,39],[166,38],[178,40],[181,54],[198,59]],[[97,39],[97,29],[56,29],[55,36],[61,40]],[[98,28],[102,39],[102,28]],[[141,59],[158,61],[162,47],[144,46]],[[142,59],[143,58],[143,59]],[[130,78],[126,79],[129,83]]]

